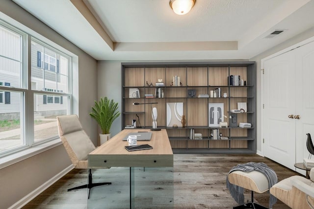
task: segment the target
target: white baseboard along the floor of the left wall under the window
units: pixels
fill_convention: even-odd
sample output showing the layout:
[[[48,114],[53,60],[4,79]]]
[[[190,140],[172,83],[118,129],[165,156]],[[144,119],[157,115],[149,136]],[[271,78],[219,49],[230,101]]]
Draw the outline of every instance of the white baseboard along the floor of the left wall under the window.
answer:
[[[32,199],[37,197],[40,193],[45,191],[49,186],[52,186],[56,181],[61,179],[65,174],[69,173],[73,169],[73,165],[69,165],[65,169],[63,169],[61,172],[53,176],[50,180],[45,182],[43,185],[37,187],[35,190],[27,194],[25,197],[23,197],[21,200],[16,202],[14,205],[9,207],[9,209],[20,209],[23,206],[25,206],[27,203],[29,203]]]

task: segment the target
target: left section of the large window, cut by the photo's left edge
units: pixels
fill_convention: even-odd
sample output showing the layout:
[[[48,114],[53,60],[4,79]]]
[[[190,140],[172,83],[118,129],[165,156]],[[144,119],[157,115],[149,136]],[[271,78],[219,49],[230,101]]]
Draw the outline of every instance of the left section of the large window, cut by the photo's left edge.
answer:
[[[26,147],[26,34],[0,21],[0,155]],[[7,131],[14,131],[8,135]]]

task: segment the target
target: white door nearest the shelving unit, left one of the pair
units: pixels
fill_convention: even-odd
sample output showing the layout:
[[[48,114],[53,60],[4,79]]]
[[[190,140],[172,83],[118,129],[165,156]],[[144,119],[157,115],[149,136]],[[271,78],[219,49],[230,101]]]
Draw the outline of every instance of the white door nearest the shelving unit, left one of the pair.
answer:
[[[295,170],[295,53],[265,60],[263,139],[265,157]]]

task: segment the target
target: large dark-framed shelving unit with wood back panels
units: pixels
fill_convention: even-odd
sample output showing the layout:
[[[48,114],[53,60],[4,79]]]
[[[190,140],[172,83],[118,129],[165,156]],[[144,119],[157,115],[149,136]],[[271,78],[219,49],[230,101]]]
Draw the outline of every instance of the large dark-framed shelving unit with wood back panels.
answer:
[[[122,63],[122,129],[131,125],[138,117],[142,128],[152,128],[151,105],[133,105],[152,103],[157,108],[157,126],[167,130],[174,153],[256,153],[256,63],[255,62],[182,62],[182,63]],[[171,86],[173,77],[180,76],[182,86]],[[246,81],[244,86],[229,85],[228,76],[240,75]],[[156,87],[157,79],[165,86]],[[153,84],[154,86],[146,86]],[[144,94],[153,94],[162,88],[163,98],[145,98]],[[198,94],[209,94],[221,89],[221,96],[198,98]],[[130,89],[138,89],[140,98],[130,98]],[[196,97],[188,97],[188,90],[195,90]],[[186,127],[166,126],[167,102],[183,102],[183,114]],[[247,104],[247,112],[231,113],[237,109],[238,102]],[[228,127],[209,127],[209,103],[223,103],[224,121]],[[237,117],[237,126],[230,127],[230,115]],[[251,123],[251,128],[240,128],[239,122]],[[189,139],[190,129],[201,133],[203,139]],[[212,129],[228,139],[211,139]]]

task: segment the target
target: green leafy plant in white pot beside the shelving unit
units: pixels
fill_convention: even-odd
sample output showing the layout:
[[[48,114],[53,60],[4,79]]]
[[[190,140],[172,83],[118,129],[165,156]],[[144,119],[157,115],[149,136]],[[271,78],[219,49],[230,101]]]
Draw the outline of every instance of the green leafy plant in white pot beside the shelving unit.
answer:
[[[92,112],[89,115],[94,118],[100,126],[102,133],[100,134],[100,143],[110,139],[110,128],[112,122],[120,116],[118,109],[118,102],[114,102],[113,99],[107,97],[100,98],[99,101],[95,100],[95,106],[92,107]]]

